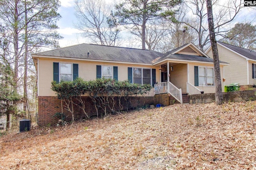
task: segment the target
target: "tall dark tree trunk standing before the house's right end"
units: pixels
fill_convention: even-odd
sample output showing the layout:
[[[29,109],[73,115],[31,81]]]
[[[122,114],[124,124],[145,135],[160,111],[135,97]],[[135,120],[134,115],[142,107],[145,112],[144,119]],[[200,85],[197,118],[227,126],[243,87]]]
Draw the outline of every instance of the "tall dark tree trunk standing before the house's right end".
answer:
[[[210,42],[212,46],[212,55],[213,55],[213,62],[214,62],[215,102],[217,105],[220,105],[223,103],[223,94],[222,94],[221,78],[220,78],[220,61],[219,61],[217,42],[215,39],[215,32],[214,32],[212,1],[206,0],[206,2],[207,2],[206,8],[207,8],[207,15],[208,15],[209,35],[210,35]]]

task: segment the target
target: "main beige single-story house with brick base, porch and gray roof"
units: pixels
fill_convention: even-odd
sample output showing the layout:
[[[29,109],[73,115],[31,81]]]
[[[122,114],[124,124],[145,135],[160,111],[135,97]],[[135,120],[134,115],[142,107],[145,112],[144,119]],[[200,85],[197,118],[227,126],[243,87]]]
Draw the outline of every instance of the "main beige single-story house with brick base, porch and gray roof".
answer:
[[[182,93],[214,93],[213,60],[189,43],[166,54],[156,51],[80,44],[33,54],[38,73],[38,117],[52,119],[61,108],[51,82],[113,78],[155,86],[148,94],[149,104],[155,94],[169,93],[182,103]],[[223,66],[220,62],[221,78]],[[60,102],[58,102],[60,103]],[[59,111],[60,112],[60,111]],[[47,116],[45,114],[48,114]],[[41,118],[42,119],[42,118]]]

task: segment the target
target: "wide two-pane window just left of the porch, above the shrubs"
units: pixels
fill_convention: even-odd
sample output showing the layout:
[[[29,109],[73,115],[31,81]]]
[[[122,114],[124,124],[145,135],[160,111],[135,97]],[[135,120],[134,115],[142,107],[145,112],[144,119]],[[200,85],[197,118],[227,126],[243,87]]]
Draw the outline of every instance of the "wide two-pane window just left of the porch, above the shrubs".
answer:
[[[133,83],[151,84],[150,68],[133,68]]]

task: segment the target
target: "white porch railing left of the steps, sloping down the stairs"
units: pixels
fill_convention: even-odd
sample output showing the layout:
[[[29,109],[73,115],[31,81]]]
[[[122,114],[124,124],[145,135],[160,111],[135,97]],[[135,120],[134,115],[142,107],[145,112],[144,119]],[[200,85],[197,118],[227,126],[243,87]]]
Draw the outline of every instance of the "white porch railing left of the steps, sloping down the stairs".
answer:
[[[178,89],[174,84],[171,82],[162,82],[158,84],[154,84],[155,94],[163,94],[169,93],[174,97],[178,102],[182,104],[182,91]]]

